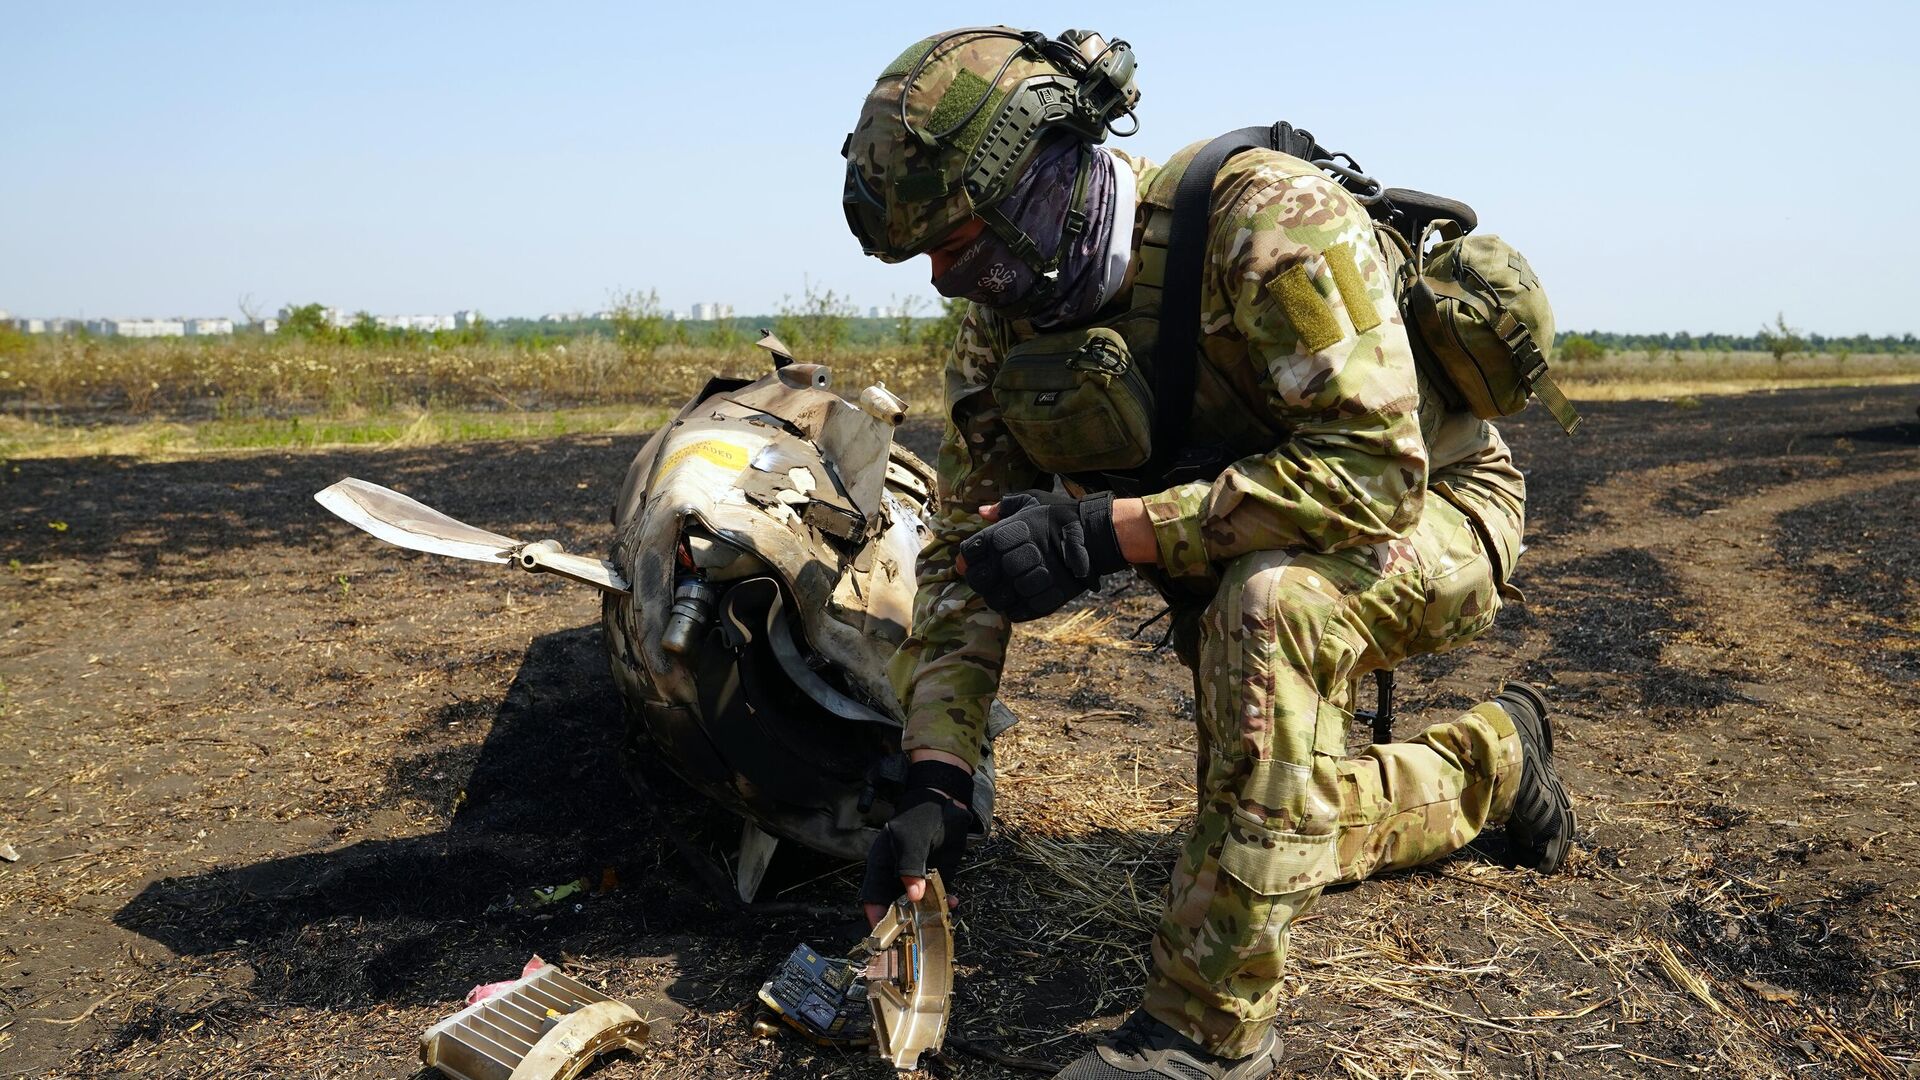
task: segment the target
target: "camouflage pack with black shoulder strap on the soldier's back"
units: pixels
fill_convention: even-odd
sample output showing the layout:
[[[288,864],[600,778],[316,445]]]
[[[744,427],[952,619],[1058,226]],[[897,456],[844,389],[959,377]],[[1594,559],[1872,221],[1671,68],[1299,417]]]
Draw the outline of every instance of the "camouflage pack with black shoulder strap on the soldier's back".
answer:
[[[1404,263],[1394,294],[1413,357],[1450,405],[1496,419],[1524,409],[1528,398],[1540,398],[1567,434],[1580,427],[1580,415],[1548,375],[1553,307],[1526,258],[1498,236],[1473,236],[1478,217],[1467,204],[1411,188],[1382,188],[1350,156],[1329,152],[1313,133],[1281,121],[1221,135],[1181,173],[1154,348],[1154,467],[1164,469],[1162,455],[1185,444],[1213,177],[1227,158],[1252,148],[1279,150],[1319,165],[1367,208],[1382,240],[1400,248]],[[1432,236],[1438,242],[1428,250]]]

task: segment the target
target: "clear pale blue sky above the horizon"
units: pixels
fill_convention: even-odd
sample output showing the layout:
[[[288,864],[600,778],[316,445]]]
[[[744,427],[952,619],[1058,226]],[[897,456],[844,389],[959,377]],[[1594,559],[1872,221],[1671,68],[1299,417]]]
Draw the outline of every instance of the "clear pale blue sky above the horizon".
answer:
[[[841,136],[904,44],[1004,21],[1133,42],[1116,146],[1290,119],[1465,198],[1561,327],[1920,329],[1920,4],[1238,8],[6,0],[0,309],[931,300],[847,234]]]

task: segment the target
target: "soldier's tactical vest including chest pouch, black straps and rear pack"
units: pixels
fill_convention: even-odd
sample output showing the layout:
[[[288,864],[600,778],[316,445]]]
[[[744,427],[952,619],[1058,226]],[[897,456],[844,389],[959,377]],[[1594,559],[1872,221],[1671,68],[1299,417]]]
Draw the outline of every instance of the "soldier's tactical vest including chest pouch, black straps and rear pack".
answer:
[[[1190,327],[1200,317],[1204,282],[1183,279],[1169,294],[1167,269],[1173,259],[1202,267],[1213,181],[1242,150],[1271,154],[1269,167],[1294,177],[1331,173],[1365,204],[1419,373],[1423,436],[1432,436],[1440,402],[1494,419],[1534,396],[1572,434],[1578,413],[1548,375],[1551,307],[1526,259],[1498,236],[1467,236],[1476,225],[1467,204],[1382,188],[1311,133],[1277,123],[1188,146],[1140,179],[1140,269],[1121,315],[1052,334],[1012,327],[1016,344],[1004,352],[993,390],[1014,440],[1037,467],[1085,488],[1140,494],[1212,480],[1229,463],[1286,440],[1260,386],[1263,371],[1233,334],[1198,327],[1198,348],[1169,350],[1175,359],[1164,361],[1167,371],[1152,369],[1162,321]],[[1196,173],[1181,192],[1196,160],[1206,161],[1206,177]],[[1183,254],[1173,252],[1177,217],[1185,221]],[[1427,252],[1434,229],[1450,233]],[[1158,409],[1156,398],[1165,398]],[[1177,398],[1188,407],[1179,409]]]

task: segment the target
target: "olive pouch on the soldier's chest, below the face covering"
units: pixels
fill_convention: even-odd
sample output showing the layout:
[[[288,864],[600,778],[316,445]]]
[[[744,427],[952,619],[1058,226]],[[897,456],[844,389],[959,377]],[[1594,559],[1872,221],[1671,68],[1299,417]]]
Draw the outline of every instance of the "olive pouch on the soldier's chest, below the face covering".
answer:
[[[1000,419],[1046,473],[1121,473],[1154,450],[1154,386],[1110,327],[1041,334],[993,377]]]

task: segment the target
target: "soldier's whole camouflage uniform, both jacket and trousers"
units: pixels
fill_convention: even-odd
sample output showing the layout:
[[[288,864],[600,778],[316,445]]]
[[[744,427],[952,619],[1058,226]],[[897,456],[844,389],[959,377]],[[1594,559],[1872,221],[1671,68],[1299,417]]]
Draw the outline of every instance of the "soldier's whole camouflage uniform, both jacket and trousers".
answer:
[[[1175,171],[1133,167],[1150,229],[1171,194],[1156,179]],[[1137,231],[1135,273],[1139,244]],[[1200,817],[1154,936],[1146,1009],[1215,1053],[1250,1053],[1271,1024],[1286,926],[1325,886],[1457,849],[1503,817],[1519,780],[1519,740],[1492,703],[1346,757],[1361,675],[1492,623],[1524,513],[1500,434],[1421,394],[1390,258],[1365,209],[1306,161],[1252,150],[1215,181],[1192,430],[1238,432],[1248,452],[1212,482],[1146,498],[1156,577],[1196,609],[1183,653],[1200,728]],[[1108,309],[1123,307],[1139,315],[1140,298],[1123,290]],[[1052,480],[989,388],[1025,332],[981,307],[962,325],[943,511],[893,663],[906,748],[970,763],[1010,625],[954,555],[983,527],[977,505]]]

